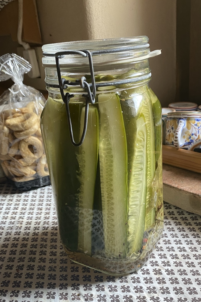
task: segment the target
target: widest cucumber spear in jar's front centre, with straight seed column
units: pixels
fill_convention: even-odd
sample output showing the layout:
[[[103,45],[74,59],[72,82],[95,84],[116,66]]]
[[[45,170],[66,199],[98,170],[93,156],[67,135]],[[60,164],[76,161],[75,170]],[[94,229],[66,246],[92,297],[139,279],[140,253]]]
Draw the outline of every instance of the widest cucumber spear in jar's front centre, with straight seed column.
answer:
[[[127,252],[127,143],[119,96],[103,93],[99,105],[99,160],[104,256]]]

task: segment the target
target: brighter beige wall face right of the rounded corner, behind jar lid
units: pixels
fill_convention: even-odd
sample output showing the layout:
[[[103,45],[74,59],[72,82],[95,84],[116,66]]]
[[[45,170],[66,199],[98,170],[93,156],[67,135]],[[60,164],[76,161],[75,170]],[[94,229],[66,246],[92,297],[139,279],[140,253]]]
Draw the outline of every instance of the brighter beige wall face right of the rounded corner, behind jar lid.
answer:
[[[151,50],[152,86],[165,107],[176,92],[176,0],[85,1],[90,39],[147,35]],[[98,12],[98,13],[97,13]]]

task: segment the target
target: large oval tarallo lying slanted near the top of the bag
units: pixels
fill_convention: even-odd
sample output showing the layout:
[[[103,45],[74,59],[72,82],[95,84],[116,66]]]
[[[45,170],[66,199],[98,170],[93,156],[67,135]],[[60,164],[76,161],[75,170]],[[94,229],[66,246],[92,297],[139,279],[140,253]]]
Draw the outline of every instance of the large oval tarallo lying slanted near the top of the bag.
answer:
[[[24,131],[33,127],[38,120],[35,113],[26,113],[19,117],[10,118],[5,121],[5,125],[14,131]]]

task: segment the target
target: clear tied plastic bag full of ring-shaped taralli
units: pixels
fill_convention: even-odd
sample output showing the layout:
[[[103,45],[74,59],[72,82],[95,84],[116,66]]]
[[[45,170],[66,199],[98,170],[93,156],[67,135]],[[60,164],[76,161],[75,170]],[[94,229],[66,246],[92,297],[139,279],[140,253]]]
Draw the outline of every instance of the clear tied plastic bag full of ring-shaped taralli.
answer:
[[[0,81],[14,81],[0,96],[0,160],[7,178],[21,190],[50,184],[39,123],[46,100],[23,84],[30,69],[16,54],[0,57]]]

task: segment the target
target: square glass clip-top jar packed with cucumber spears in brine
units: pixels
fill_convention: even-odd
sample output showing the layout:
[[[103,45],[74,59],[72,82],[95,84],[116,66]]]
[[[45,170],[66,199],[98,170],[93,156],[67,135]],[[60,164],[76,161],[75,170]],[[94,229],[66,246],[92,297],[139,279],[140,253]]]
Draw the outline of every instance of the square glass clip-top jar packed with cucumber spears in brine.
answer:
[[[163,230],[161,105],[149,87],[149,57],[160,51],[150,52],[146,36],[42,49],[41,130],[64,249],[110,275],[136,271]]]

